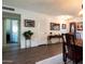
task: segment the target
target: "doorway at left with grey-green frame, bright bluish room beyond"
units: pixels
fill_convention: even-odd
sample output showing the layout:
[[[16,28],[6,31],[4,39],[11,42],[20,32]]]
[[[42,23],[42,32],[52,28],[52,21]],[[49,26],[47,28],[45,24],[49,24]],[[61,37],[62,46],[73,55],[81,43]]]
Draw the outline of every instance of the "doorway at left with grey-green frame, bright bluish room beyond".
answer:
[[[19,18],[18,18],[18,17]],[[20,15],[3,12],[3,43],[2,51],[14,51],[20,48]]]

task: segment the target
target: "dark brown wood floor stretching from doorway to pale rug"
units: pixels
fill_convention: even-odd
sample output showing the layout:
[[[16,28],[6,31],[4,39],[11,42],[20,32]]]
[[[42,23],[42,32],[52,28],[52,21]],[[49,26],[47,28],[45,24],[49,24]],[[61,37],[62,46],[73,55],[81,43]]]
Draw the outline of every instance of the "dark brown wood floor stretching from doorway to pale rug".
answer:
[[[2,53],[2,64],[36,64],[62,52],[62,43],[39,46]]]

